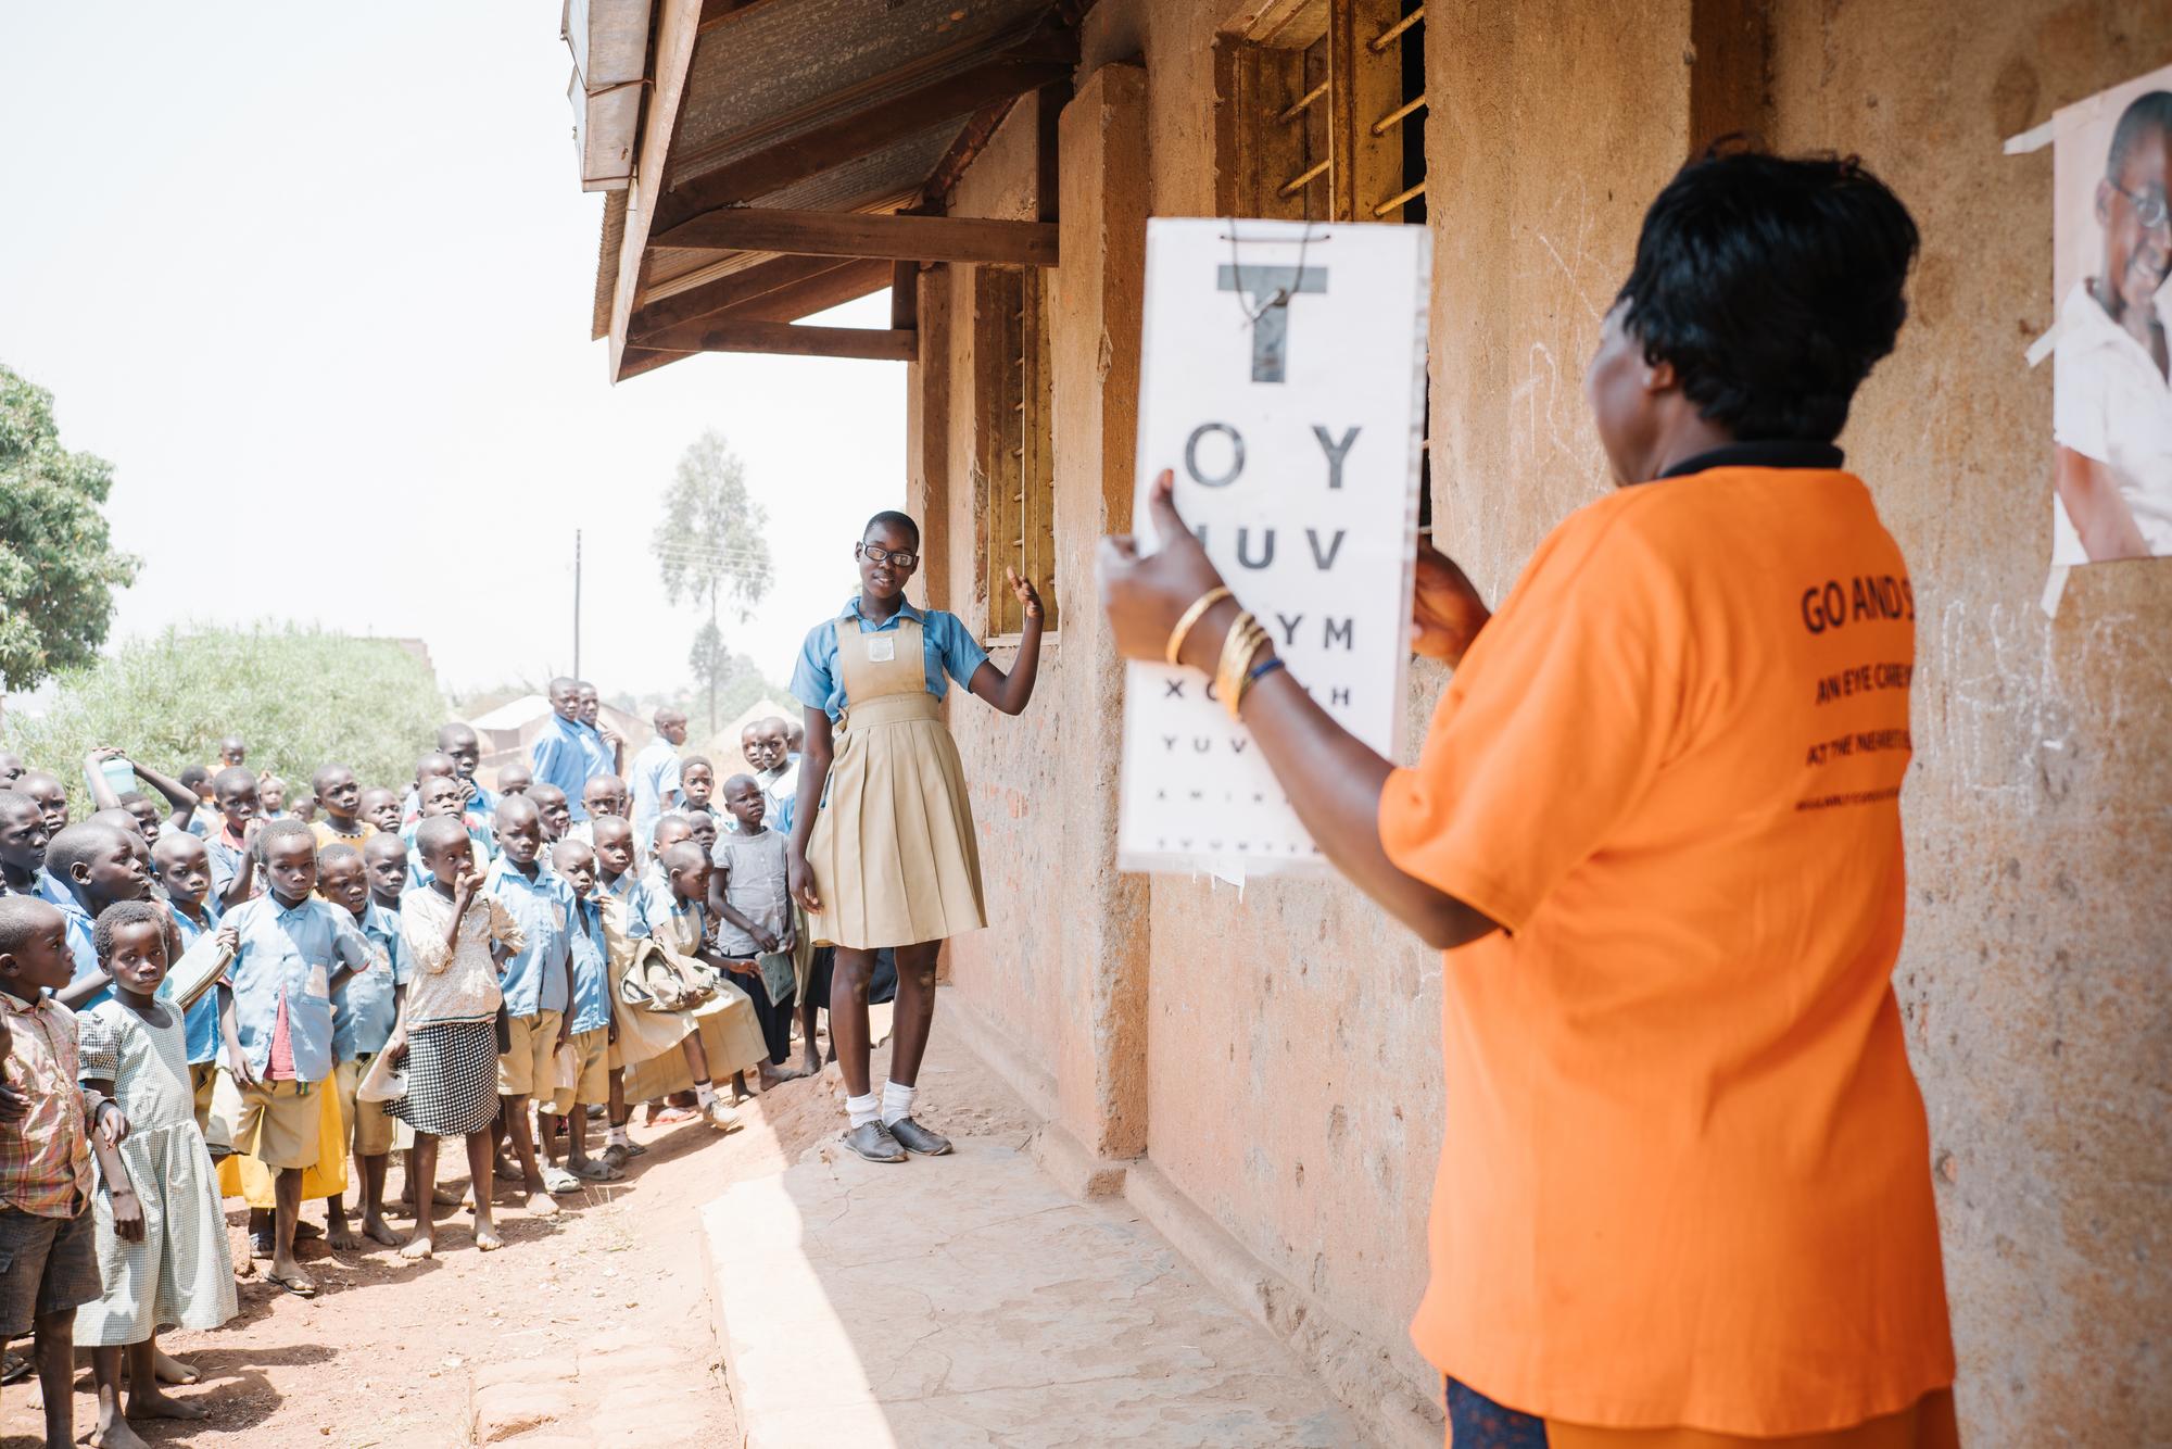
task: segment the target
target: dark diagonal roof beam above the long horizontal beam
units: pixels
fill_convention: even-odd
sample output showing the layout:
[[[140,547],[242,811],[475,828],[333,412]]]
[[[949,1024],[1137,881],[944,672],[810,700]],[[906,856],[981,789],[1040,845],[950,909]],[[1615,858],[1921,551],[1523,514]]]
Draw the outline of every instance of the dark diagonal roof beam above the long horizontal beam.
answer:
[[[806,180],[808,176],[819,176],[836,165],[856,161],[893,143],[897,137],[971,115],[997,100],[1038,91],[1056,80],[1069,80],[1077,63],[1075,37],[1071,37],[1071,48],[1073,54],[1069,59],[1045,54],[1049,50],[1047,43],[1038,46],[1038,52],[1010,50],[973,70],[945,76],[904,96],[877,100],[871,106],[823,122],[752,156],[741,156],[702,176],[691,176],[665,193],[658,204],[656,228],[669,230],[717,206],[758,200],[795,180]]]

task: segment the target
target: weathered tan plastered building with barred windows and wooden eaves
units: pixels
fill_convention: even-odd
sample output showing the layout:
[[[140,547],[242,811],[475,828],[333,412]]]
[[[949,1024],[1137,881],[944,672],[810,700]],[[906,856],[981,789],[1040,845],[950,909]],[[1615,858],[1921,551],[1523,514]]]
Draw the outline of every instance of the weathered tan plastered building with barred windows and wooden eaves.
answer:
[[[613,380],[708,350],[904,358],[917,602],[1003,658],[990,582],[1053,578],[1032,713],[951,710],[993,928],[947,952],[945,1030],[1047,1119],[1058,1177],[1123,1193],[1384,1442],[1440,1442],[1405,1338],[1440,962],[1340,882],[1114,867],[1093,550],[1132,521],[1145,219],[1434,230],[1431,517],[1499,600],[1607,489],[1579,378],[1675,167],[1746,130],[1892,182],[1924,235],[1911,322],[1842,443],[1922,604],[1896,984],[1963,1425],[2163,1438],[2172,563],[2040,608],[2050,369],[2022,354],[2053,322],[2050,152],[2000,141],[2172,59],[2172,9],[658,0],[652,26],[595,287]],[[793,326],[884,287],[888,328]],[[1444,678],[1414,669],[1414,726]]]

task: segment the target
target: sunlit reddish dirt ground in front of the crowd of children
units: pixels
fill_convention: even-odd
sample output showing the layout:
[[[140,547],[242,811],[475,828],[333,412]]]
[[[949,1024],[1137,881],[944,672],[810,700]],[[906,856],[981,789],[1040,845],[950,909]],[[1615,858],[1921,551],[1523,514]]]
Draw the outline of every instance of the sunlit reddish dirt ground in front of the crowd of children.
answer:
[[[880,1038],[888,1010],[875,1012]],[[884,1062],[877,1049],[875,1080]],[[695,1214],[732,1182],[784,1171],[834,1136],[841,1093],[836,1067],[788,1082],[741,1104],[747,1125],[723,1138],[702,1123],[645,1130],[636,1110],[632,1136],[649,1151],[626,1180],[563,1195],[556,1219],[530,1217],[519,1195],[502,1190],[506,1247],[495,1253],[473,1249],[465,1208],[441,1210],[430,1262],[402,1262],[367,1240],[334,1256],[313,1240],[302,1256],[321,1288],[315,1299],[252,1273],[239,1282],[232,1323],[161,1338],[202,1371],[200,1384],[174,1393],[211,1406],[211,1419],[135,1427],[154,1445],[250,1449],[736,1445]],[[591,1151],[602,1147],[599,1123],[589,1141]],[[439,1173],[465,1190],[458,1151],[443,1154]],[[387,1195],[397,1190],[395,1164]],[[239,1264],[245,1214],[230,1206]],[[304,1219],[321,1225],[324,1204],[306,1204]],[[80,1438],[96,1416],[87,1371],[76,1386]],[[0,1445],[37,1445],[39,1414],[35,1382],[0,1390]]]

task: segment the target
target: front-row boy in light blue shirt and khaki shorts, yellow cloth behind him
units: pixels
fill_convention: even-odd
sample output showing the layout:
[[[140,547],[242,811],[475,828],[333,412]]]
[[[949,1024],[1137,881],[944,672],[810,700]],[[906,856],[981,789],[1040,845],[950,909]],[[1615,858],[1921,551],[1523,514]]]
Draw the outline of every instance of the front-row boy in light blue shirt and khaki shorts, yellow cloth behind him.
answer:
[[[345,1190],[345,1132],[332,1084],[332,993],[371,965],[354,917],[317,899],[317,839],[302,821],[267,821],[254,854],[265,895],[232,906],[222,930],[237,934],[219,982],[224,1056],[213,1084],[213,1132],[222,1123],[237,1158],[222,1169],[228,1193],[250,1197],[254,1158],[272,1175],[272,1271],[267,1282],[295,1297],[317,1284],[293,1256],[304,1173],[321,1167],[311,1195]],[[339,1186],[330,1186],[337,1180]],[[261,1204],[261,1180],[256,1199]],[[252,1204],[263,1210],[258,1204]]]

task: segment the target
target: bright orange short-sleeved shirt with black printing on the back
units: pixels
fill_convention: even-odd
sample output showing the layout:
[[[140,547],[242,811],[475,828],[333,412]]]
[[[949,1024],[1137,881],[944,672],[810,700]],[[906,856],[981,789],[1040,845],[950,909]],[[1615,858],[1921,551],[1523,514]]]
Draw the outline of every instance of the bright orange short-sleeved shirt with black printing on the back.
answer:
[[[1507,928],[1444,958],[1444,1373],[1744,1436],[1953,1382],[1890,982],[1914,658],[1861,480],[1768,467],[1581,508],[1470,647],[1379,808]]]

